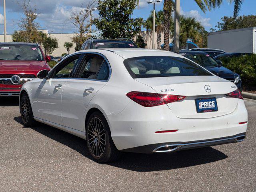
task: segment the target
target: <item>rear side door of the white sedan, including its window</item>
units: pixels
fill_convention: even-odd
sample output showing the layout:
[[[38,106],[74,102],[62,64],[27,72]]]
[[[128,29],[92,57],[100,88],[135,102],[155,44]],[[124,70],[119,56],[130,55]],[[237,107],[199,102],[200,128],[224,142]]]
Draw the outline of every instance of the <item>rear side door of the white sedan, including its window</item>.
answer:
[[[66,128],[84,130],[84,113],[90,100],[106,84],[110,65],[104,56],[86,54],[76,78],[70,78],[62,93],[62,120]]]

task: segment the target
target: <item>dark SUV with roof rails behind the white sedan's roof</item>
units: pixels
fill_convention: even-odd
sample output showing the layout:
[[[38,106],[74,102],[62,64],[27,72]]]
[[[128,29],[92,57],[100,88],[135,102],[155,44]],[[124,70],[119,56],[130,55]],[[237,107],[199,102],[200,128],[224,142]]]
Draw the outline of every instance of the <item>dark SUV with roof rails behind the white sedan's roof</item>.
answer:
[[[88,38],[81,47],[81,50],[86,49],[104,49],[104,48],[138,48],[131,39],[94,39]]]

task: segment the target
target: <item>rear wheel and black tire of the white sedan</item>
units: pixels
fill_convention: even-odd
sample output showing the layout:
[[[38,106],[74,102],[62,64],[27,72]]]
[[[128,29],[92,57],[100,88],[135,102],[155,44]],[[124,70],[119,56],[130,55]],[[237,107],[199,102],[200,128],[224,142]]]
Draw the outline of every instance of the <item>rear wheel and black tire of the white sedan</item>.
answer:
[[[87,121],[86,143],[96,162],[111,162],[121,155],[111,138],[108,122],[100,112],[92,113]]]

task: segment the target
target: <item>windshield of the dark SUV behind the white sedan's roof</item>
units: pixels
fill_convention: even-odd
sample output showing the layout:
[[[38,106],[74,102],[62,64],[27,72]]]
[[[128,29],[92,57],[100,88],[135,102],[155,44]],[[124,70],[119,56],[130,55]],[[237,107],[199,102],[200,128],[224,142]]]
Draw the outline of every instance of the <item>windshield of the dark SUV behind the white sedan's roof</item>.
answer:
[[[92,48],[137,48],[137,46],[132,42],[95,42],[92,44]]]

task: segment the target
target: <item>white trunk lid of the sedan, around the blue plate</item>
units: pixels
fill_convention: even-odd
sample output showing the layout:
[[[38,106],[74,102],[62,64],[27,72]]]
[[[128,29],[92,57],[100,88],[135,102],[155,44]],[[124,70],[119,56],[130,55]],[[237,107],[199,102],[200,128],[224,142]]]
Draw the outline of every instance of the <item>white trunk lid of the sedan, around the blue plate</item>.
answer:
[[[159,94],[186,96],[183,100],[167,104],[178,118],[223,116],[232,113],[238,104],[237,98],[225,95],[236,90],[236,85],[217,76],[177,76],[137,78],[136,80],[152,87]],[[210,87],[208,92],[205,90],[206,85]],[[216,98],[218,111],[198,113],[195,102],[198,98]]]

